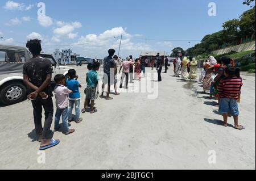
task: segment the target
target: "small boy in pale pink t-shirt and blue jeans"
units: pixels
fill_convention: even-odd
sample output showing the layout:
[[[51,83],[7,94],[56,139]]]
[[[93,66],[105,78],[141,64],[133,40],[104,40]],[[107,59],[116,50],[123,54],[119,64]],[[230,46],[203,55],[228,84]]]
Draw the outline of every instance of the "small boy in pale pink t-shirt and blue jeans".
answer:
[[[63,74],[57,74],[54,80],[57,83],[54,89],[57,107],[55,114],[54,132],[59,131],[60,116],[62,116],[64,134],[68,135],[75,132],[75,129],[68,128],[68,94],[71,94],[72,91],[65,86],[66,81]]]

